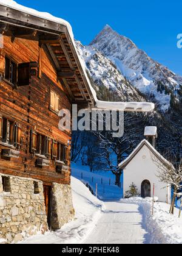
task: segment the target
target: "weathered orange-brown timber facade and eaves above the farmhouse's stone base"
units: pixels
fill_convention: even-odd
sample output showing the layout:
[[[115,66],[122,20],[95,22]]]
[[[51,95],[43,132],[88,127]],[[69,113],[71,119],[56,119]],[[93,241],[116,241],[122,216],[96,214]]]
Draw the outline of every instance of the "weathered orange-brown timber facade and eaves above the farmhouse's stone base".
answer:
[[[59,109],[67,108],[71,111],[72,103],[78,103],[81,107],[94,105],[92,93],[84,83],[85,78],[72,40],[66,26],[59,25],[58,30],[58,24],[47,21],[47,26],[42,28],[39,26],[42,19],[31,19],[29,15],[27,23],[24,13],[0,7],[0,27],[4,41],[0,63],[1,119],[9,118],[21,129],[21,142],[18,147],[16,144],[4,143],[2,137],[0,138],[1,153],[2,149],[19,151],[18,158],[6,155],[4,157],[1,154],[0,171],[4,174],[39,179],[47,185],[52,182],[69,184],[71,133],[58,129],[58,113],[50,105],[51,93],[58,95]],[[18,82],[17,76],[21,76],[24,69],[15,71],[16,82],[5,77],[6,59],[12,61],[17,70],[24,63],[33,63],[29,84],[22,86]],[[2,129],[1,125],[1,133]],[[46,140],[45,152],[42,155],[37,149],[32,151],[34,133],[44,136]],[[50,142],[47,142],[47,138]],[[55,141],[64,144],[66,148],[66,160],[63,162],[69,166],[69,171],[56,172],[56,157],[53,157]],[[38,166],[36,163],[39,158],[49,162],[43,167]]]

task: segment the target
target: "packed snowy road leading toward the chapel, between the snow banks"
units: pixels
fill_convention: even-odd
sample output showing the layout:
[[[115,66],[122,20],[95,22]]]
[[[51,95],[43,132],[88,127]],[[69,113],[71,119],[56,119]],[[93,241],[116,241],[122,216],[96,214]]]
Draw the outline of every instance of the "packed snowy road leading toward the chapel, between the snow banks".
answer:
[[[147,232],[139,206],[104,202],[106,208],[84,244],[143,244]]]

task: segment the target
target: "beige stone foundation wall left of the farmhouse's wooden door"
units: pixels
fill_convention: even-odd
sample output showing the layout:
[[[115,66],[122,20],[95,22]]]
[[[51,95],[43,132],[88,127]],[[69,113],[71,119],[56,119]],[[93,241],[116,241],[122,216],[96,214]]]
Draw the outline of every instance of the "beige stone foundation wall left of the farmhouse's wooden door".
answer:
[[[0,174],[0,243],[17,243],[46,230],[42,182]]]

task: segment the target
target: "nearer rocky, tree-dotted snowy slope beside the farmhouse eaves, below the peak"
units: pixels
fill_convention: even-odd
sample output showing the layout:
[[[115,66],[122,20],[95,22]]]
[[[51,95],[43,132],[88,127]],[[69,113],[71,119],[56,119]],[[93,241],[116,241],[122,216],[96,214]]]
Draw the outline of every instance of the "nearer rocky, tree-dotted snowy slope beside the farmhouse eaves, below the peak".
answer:
[[[115,99],[146,101],[112,61],[101,52],[92,46],[83,46],[80,41],[76,41],[76,47],[79,55],[86,63],[87,73],[96,85],[97,91],[101,90],[101,87],[105,87],[115,96]]]

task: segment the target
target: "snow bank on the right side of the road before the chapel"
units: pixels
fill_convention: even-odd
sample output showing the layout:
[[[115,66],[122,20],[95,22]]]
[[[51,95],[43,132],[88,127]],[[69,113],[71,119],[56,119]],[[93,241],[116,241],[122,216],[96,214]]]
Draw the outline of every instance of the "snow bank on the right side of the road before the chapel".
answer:
[[[182,217],[178,218],[178,210],[175,214],[169,214],[170,205],[156,202],[154,215],[152,216],[152,199],[124,199],[121,202],[140,205],[143,214],[143,225],[148,232],[150,244],[181,244],[182,243]]]

